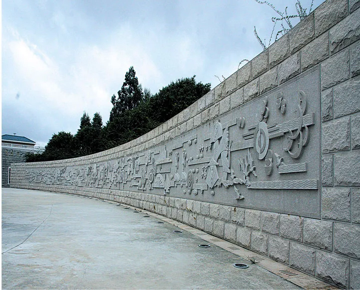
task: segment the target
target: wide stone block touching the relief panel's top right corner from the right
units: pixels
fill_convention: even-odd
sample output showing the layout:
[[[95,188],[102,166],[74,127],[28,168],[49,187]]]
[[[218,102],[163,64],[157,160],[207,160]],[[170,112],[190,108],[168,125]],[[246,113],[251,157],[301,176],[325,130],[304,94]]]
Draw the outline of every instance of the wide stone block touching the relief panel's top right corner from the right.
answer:
[[[342,82],[349,77],[349,56],[347,49],[321,63],[321,90]]]

